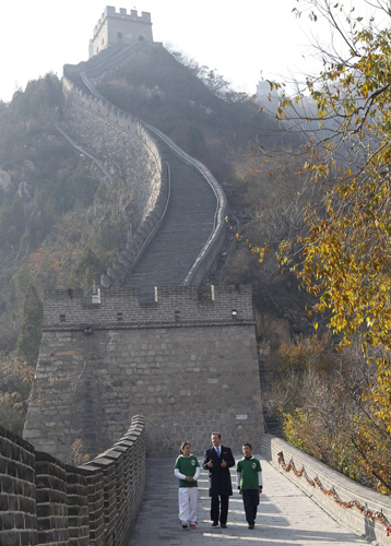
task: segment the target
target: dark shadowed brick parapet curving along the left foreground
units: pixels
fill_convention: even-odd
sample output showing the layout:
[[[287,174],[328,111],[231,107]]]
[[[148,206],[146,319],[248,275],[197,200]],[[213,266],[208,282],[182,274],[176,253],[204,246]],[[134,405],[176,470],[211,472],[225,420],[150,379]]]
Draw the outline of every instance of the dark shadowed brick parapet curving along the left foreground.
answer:
[[[0,427],[0,483],[1,545],[126,545],[145,486],[144,418],[82,466]]]

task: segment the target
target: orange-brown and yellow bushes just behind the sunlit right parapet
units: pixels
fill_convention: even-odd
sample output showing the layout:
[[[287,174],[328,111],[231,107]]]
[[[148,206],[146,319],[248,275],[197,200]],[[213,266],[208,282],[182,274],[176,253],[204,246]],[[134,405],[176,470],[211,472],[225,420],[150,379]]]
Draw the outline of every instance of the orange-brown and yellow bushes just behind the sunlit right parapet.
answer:
[[[263,392],[280,415],[285,438],[346,476],[391,494],[391,439],[363,400],[374,372],[359,344],[336,349],[331,334],[282,343],[266,366],[274,372]]]

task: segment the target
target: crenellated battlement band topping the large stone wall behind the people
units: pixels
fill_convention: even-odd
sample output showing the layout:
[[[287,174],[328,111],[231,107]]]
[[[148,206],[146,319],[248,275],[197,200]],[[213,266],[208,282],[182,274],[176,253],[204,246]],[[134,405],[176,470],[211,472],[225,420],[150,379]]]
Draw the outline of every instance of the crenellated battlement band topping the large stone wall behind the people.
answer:
[[[44,330],[191,327],[194,324],[253,323],[251,286],[211,286],[199,297],[193,286],[156,287],[153,301],[138,288],[47,290]]]

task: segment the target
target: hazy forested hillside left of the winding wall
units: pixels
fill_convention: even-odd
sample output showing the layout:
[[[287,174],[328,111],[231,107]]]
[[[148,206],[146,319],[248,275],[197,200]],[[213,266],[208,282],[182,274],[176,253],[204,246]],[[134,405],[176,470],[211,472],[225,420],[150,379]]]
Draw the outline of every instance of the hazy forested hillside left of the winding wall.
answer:
[[[110,233],[121,233],[120,219],[110,216],[116,188],[108,188],[55,127],[62,107],[61,83],[51,74],[1,105],[0,283],[7,330],[0,347],[7,352],[14,347],[28,286],[39,296],[44,288],[88,287],[88,268],[105,270],[107,251],[116,248]],[[109,226],[103,226],[98,209],[107,211]]]

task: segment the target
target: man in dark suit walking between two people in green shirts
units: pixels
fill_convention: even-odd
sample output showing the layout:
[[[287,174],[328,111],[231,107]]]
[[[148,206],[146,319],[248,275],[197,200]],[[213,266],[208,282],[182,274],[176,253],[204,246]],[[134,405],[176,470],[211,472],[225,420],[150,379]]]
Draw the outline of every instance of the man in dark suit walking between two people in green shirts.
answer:
[[[221,444],[222,435],[212,432],[212,448],[205,451],[202,467],[209,471],[212,527],[227,526],[228,499],[233,494],[229,468],[235,459],[229,448]]]

